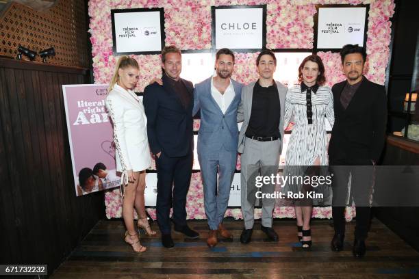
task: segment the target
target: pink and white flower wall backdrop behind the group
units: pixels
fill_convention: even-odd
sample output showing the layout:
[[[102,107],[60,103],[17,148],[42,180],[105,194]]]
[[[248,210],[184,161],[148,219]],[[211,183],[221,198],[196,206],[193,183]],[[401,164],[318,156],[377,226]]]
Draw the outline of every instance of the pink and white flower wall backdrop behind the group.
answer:
[[[277,1],[231,1],[231,0],[90,0],[90,34],[95,83],[109,83],[118,57],[112,53],[111,9],[158,8],[165,12],[164,28],[166,45],[175,44],[183,50],[203,50],[211,48],[211,6],[215,5],[267,5],[266,47],[268,49],[313,49],[314,14],[316,4],[370,4],[368,14],[368,40],[366,77],[371,81],[385,82],[385,67],[390,55],[390,18],[394,13],[393,0],[277,0]],[[338,53],[319,52],[326,67],[327,85],[331,86],[344,80],[340,56]],[[233,78],[242,83],[257,79],[255,57],[257,53],[236,53],[236,68]],[[137,91],[154,77],[162,74],[160,55],[132,55],[140,64],[140,81]],[[195,121],[194,130],[199,129]],[[240,163],[239,163],[240,165]],[[107,217],[120,217],[119,190],[105,194]],[[203,192],[201,176],[192,174],[188,194],[188,217],[205,218],[203,211]],[[152,217],[155,210],[149,209]],[[240,209],[228,209],[226,215],[241,218]],[[255,211],[260,215],[260,210]],[[346,220],[351,220],[355,211],[346,211]],[[314,217],[330,218],[331,209],[316,208]],[[294,217],[294,210],[289,207],[277,207],[275,217]]]

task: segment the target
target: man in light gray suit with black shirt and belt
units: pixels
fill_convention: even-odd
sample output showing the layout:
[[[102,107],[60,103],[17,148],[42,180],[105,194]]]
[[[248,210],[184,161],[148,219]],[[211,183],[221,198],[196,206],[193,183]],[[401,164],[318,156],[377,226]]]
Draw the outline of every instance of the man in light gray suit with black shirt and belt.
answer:
[[[283,139],[283,113],[285,95],[288,88],[274,81],[273,73],[277,59],[272,51],[264,50],[256,59],[259,79],[242,90],[242,100],[238,108],[237,120],[242,122],[238,152],[241,155],[241,202],[244,230],[240,236],[242,243],[249,243],[253,233],[255,204],[255,175],[270,176],[277,174],[279,155]],[[275,185],[264,185],[268,192]],[[262,200],[262,231],[272,241],[278,235],[272,229],[274,199]]]

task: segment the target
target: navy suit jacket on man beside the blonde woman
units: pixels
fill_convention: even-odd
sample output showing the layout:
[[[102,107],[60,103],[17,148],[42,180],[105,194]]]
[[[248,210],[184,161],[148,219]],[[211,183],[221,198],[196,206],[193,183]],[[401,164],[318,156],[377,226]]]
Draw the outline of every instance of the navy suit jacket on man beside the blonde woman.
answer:
[[[180,79],[190,94],[190,104],[185,108],[167,79],[169,77],[163,75],[163,85],[153,83],[144,89],[142,103],[147,116],[147,135],[153,154],[162,151],[168,157],[182,157],[193,148],[194,86]]]

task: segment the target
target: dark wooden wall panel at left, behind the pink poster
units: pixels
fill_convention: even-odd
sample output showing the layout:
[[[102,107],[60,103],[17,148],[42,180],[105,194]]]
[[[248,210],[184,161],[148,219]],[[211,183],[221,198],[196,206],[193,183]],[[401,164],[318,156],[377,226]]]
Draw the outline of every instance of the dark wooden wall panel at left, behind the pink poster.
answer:
[[[76,197],[63,84],[81,68],[0,58],[0,263],[60,265],[98,220],[103,192]]]

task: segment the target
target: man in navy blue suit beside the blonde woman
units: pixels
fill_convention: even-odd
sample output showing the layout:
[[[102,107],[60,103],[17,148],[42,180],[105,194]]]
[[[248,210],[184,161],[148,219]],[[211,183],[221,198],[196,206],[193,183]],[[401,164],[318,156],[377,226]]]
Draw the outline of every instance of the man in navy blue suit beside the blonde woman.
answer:
[[[148,85],[143,103],[150,149],[157,166],[157,223],[162,244],[172,248],[169,217],[172,200],[175,230],[190,238],[199,237],[186,224],[186,195],[192,173],[194,88],[190,81],[179,77],[182,61],[177,47],[164,47],[162,68],[163,84]]]

